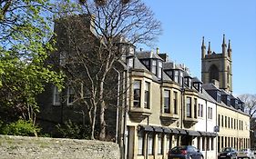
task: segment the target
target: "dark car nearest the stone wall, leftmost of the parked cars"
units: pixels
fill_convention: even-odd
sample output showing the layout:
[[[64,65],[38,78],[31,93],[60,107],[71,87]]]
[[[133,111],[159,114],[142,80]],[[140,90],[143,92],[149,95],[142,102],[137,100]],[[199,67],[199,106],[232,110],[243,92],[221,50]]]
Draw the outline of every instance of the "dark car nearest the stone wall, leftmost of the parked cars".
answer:
[[[169,150],[168,159],[203,159],[203,155],[192,145],[179,145]]]

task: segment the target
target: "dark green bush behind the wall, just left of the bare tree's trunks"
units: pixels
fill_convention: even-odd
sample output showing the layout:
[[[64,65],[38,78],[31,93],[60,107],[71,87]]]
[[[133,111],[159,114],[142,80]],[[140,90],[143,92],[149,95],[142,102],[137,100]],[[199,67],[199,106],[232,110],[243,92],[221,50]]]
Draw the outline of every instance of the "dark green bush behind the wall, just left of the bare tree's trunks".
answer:
[[[86,126],[86,127],[85,127]],[[88,139],[89,135],[89,126],[88,125],[81,125],[71,122],[68,120],[63,125],[57,124],[56,128],[59,133],[59,137],[65,138],[75,138],[75,139]]]

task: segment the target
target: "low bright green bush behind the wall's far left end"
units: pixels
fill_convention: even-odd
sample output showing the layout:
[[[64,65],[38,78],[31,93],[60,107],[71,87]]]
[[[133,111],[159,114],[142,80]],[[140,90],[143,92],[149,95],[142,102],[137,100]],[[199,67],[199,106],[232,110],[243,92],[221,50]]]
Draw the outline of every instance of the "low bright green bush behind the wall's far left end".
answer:
[[[35,126],[32,121],[25,121],[22,119],[11,124],[0,124],[1,134],[34,136],[39,131],[40,129]]]

